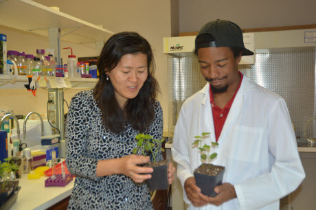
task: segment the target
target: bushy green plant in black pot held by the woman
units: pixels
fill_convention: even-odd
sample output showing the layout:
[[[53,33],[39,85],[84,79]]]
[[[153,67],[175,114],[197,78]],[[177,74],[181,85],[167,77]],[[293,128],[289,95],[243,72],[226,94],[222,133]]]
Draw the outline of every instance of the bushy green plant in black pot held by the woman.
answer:
[[[153,162],[147,163],[145,167],[153,167],[154,172],[151,174],[151,178],[147,180],[148,188],[150,191],[157,189],[168,188],[168,160],[156,161],[157,154],[163,152],[163,148],[159,147],[159,143],[164,140],[153,139],[153,136],[139,134],[135,137],[137,140],[137,148],[134,148],[133,154],[140,151],[144,156],[152,154]]]

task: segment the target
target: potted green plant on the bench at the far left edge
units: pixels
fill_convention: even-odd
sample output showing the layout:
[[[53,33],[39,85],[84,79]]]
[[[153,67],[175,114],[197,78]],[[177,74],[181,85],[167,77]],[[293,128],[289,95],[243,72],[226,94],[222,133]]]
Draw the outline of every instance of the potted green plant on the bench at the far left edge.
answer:
[[[19,167],[11,161],[11,159],[4,159],[6,162],[0,161],[0,209],[9,209],[14,202],[16,202],[17,194],[21,187],[19,187],[18,180],[11,180],[10,174],[15,174]]]

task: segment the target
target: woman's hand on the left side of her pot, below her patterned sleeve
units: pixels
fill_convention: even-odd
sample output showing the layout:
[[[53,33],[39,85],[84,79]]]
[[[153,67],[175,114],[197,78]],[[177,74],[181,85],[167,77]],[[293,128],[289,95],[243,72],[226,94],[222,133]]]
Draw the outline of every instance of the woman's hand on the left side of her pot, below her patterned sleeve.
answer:
[[[135,183],[142,183],[144,180],[151,178],[149,173],[153,173],[152,167],[137,166],[138,164],[149,163],[149,156],[131,154],[118,160],[120,160],[120,174],[131,177]]]

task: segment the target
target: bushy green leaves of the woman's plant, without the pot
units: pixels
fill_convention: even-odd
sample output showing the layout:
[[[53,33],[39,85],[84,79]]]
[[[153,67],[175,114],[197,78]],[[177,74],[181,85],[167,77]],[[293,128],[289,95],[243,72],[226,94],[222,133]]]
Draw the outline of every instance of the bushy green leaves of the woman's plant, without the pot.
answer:
[[[159,147],[159,143],[162,143],[164,140],[153,139],[153,136],[144,135],[139,133],[135,139],[137,139],[137,148],[133,149],[133,154],[136,154],[138,150],[142,152],[144,156],[146,156],[146,152],[150,152],[153,154],[153,161],[156,162],[156,157],[158,152],[164,151],[163,148]],[[155,151],[153,150],[155,149]]]

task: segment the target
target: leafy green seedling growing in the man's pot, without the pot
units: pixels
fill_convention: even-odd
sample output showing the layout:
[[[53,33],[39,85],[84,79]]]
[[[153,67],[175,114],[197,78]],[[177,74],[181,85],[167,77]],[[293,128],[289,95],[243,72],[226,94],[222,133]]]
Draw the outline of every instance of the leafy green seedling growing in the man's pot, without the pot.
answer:
[[[206,160],[208,164],[210,164],[210,161],[215,159],[217,156],[216,152],[210,155],[211,146],[203,142],[203,139],[206,139],[207,136],[209,135],[210,135],[210,132],[202,132],[202,136],[195,136],[194,137],[195,141],[192,143],[193,147],[198,147],[198,149],[200,150],[201,160],[202,161]],[[218,146],[217,142],[212,142],[212,147],[217,147],[217,146]]]

